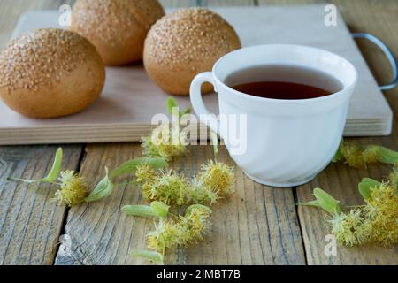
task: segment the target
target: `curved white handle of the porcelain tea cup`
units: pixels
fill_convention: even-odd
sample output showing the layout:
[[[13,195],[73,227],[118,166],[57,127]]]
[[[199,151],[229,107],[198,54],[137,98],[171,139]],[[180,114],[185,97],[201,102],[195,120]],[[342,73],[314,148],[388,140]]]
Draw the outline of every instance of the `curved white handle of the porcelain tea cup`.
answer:
[[[219,120],[216,118],[215,114],[212,114],[207,110],[203,103],[201,89],[203,83],[205,82],[210,82],[210,84],[215,86],[215,80],[211,72],[199,73],[195,79],[192,80],[190,88],[191,103],[195,113],[199,116],[199,119],[203,122],[203,124],[209,126],[213,132],[220,134]],[[204,116],[206,119],[203,119]]]

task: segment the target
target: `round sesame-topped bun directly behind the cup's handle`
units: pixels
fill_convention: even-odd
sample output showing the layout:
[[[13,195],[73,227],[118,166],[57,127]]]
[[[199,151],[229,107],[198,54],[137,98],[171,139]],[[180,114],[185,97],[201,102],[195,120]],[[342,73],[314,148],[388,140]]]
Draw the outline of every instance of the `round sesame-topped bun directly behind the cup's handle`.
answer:
[[[198,73],[211,71],[218,58],[241,48],[225,19],[210,10],[175,11],[151,27],[145,41],[144,65],[149,77],[165,92],[188,95]],[[210,92],[210,84],[203,92]]]

